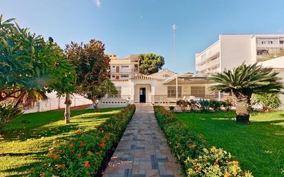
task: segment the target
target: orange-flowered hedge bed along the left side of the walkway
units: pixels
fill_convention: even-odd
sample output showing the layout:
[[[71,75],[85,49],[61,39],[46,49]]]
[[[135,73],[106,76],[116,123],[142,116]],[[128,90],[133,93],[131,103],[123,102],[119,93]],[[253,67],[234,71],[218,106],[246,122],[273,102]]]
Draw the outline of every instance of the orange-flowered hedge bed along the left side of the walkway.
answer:
[[[128,105],[97,129],[78,131],[72,142],[52,148],[32,176],[98,176],[134,112],[135,105]]]

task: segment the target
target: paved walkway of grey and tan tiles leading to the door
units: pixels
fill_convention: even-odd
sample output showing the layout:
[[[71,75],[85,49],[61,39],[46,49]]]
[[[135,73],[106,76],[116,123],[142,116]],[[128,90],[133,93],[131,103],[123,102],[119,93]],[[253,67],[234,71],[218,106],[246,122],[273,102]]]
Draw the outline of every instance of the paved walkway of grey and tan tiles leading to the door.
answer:
[[[103,177],[179,177],[180,173],[152,105],[136,105]]]

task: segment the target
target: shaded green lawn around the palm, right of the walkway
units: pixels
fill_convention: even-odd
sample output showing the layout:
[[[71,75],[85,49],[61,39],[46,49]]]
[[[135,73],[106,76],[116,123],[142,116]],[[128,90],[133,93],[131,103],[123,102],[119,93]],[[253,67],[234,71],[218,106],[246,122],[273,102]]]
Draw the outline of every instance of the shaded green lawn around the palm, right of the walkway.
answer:
[[[254,176],[284,176],[284,112],[254,112],[250,125],[235,123],[234,116],[234,112],[176,113],[210,146],[231,152]]]

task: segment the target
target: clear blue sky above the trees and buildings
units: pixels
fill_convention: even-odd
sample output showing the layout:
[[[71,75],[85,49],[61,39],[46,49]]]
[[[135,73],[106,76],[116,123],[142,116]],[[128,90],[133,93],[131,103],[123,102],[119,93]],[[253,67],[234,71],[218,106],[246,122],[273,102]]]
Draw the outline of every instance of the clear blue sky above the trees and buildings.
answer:
[[[227,33],[283,33],[283,0],[0,0],[0,14],[61,47],[99,39],[107,53],[153,52],[175,72],[194,72],[194,53]],[[176,66],[172,25],[176,24]]]

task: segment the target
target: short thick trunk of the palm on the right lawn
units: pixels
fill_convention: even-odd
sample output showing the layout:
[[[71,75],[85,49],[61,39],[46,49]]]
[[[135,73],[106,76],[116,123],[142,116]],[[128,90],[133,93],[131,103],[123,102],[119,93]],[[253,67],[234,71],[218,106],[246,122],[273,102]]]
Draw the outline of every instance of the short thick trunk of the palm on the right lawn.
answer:
[[[250,124],[250,110],[246,98],[238,98],[236,101],[236,123]]]

